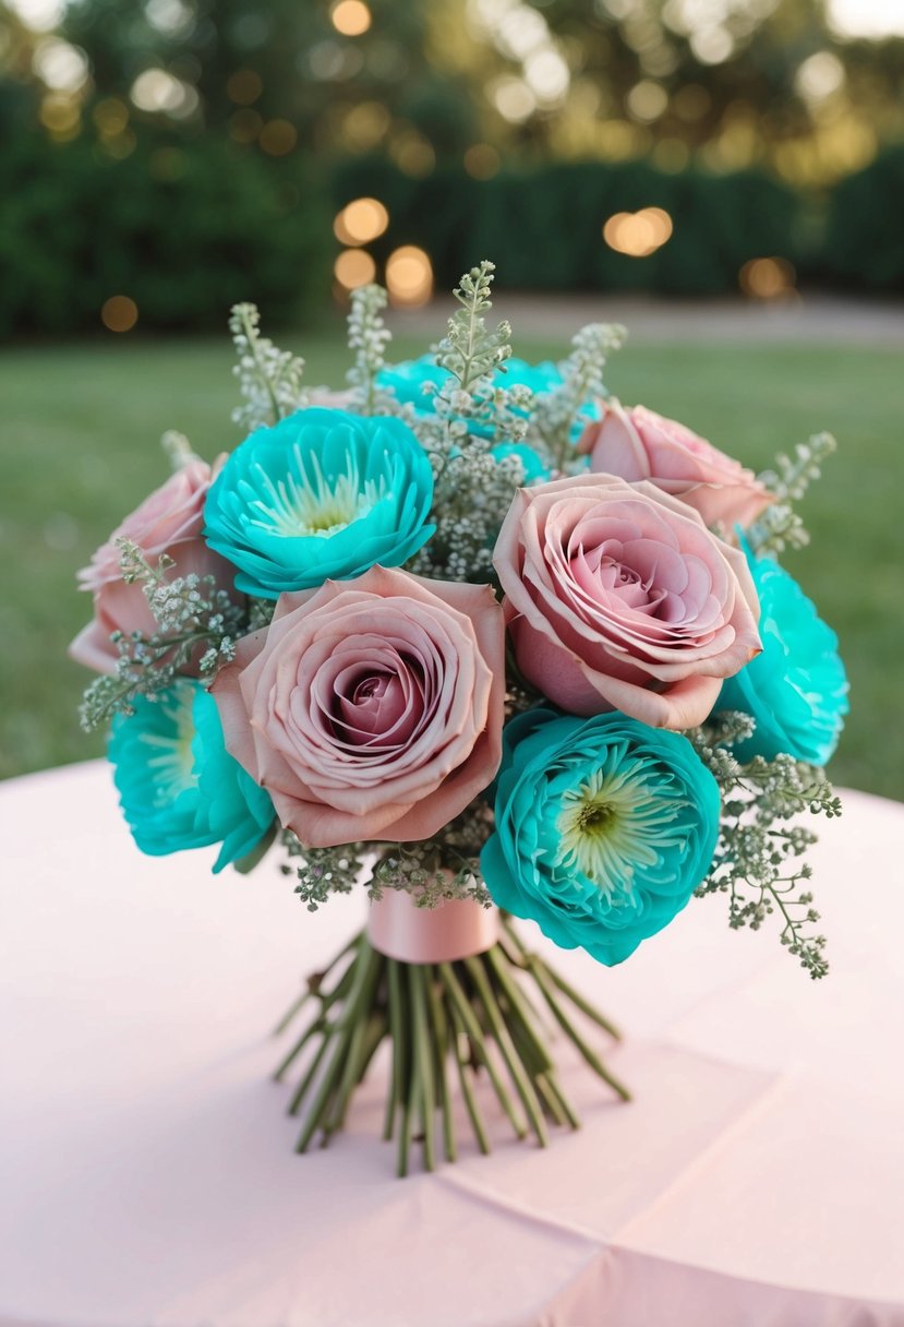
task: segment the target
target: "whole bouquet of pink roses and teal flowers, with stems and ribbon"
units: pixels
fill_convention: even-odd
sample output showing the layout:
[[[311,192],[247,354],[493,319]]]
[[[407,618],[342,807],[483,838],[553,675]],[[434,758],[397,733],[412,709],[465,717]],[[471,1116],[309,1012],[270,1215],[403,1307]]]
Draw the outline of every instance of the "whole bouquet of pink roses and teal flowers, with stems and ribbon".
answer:
[[[619,326],[513,358],[492,276],[406,364],[384,292],[355,292],[339,393],[236,307],[245,441],[208,464],[164,437],[174,474],[81,573],[72,646],[143,852],[247,872],[274,847],[309,910],[370,900],[277,1076],[300,1074],[305,1151],[388,1039],[400,1174],[415,1137],[435,1165],[437,1127],[455,1158],[456,1092],[481,1151],[485,1093],[539,1144],[578,1125],[550,1023],[628,1097],[598,1044],[618,1032],[513,918],[614,965],[717,894],[827,970],[799,816],[839,813],[847,683],[778,553],[832,439],[757,478],[607,393]]]

